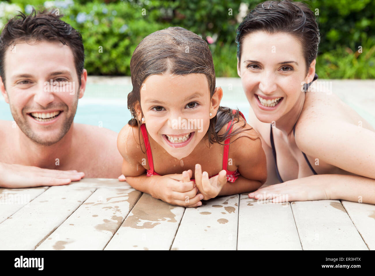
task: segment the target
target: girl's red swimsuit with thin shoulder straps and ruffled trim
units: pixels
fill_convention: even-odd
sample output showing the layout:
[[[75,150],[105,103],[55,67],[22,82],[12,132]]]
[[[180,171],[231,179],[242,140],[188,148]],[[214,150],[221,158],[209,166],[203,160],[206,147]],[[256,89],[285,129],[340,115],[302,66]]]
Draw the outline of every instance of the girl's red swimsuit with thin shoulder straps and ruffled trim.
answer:
[[[233,112],[233,114],[235,114],[236,110],[233,110],[232,112]],[[245,119],[245,116],[242,114],[241,111],[240,111],[240,115]],[[245,119],[245,121],[246,121],[246,119]],[[232,128],[233,128],[233,125],[231,124],[231,122],[228,123],[228,128],[226,130],[228,130],[229,127],[230,127],[230,130],[229,130],[228,134],[230,134],[232,132]],[[150,169],[147,170],[147,176],[160,175],[160,174],[158,174],[157,172],[154,171],[154,163],[153,163],[153,160],[152,160],[151,146],[150,146],[150,142],[148,141],[147,130],[146,130],[145,124],[141,124],[141,131],[142,131],[142,136],[143,136],[143,139],[144,139],[144,144],[147,145],[146,146],[146,154],[147,154],[148,164],[150,165]],[[226,169],[227,166],[228,166],[229,141],[230,141],[230,138],[228,138],[224,141],[224,144],[227,144],[227,145],[224,145],[223,169],[225,169],[225,171],[226,171],[226,180],[229,181],[229,182],[234,182],[234,181],[236,181],[236,179],[238,178],[240,173],[239,173],[238,169],[236,169],[236,171],[228,171]],[[215,174],[211,177],[214,177],[216,175],[218,175],[218,174]]]

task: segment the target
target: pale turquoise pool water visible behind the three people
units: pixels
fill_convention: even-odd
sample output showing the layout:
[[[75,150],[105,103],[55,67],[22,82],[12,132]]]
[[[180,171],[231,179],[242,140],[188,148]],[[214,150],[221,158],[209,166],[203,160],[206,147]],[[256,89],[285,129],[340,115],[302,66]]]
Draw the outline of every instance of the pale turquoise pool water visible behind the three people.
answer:
[[[74,121],[119,132],[131,118],[130,111],[127,109],[127,94],[132,90],[132,85],[129,78],[117,78],[116,81],[101,80],[106,79],[99,77],[99,81],[90,82],[89,77],[86,92],[78,101]],[[333,92],[375,127],[375,114],[372,108],[375,104],[375,98],[372,96],[374,92],[370,95],[371,90],[367,91],[371,89],[373,83],[366,82],[374,83],[375,81],[348,80],[344,81],[344,84],[343,81],[333,81],[333,87],[336,87]],[[358,83],[364,84],[362,89],[358,88]],[[223,99],[220,105],[233,109],[238,107],[248,120],[250,105],[243,93],[240,78],[217,78],[216,86],[223,89]],[[353,95],[351,87],[355,87],[361,93],[357,92]],[[3,97],[0,99],[0,120],[13,120],[9,105]]]

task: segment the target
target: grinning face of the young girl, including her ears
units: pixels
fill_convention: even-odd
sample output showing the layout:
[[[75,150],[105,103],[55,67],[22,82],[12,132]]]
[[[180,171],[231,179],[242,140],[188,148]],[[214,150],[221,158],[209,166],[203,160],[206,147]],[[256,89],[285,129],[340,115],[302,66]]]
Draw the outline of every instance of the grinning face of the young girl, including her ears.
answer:
[[[217,88],[210,99],[204,74],[151,75],[141,86],[143,122],[154,141],[181,159],[206,135],[221,98],[222,90]]]

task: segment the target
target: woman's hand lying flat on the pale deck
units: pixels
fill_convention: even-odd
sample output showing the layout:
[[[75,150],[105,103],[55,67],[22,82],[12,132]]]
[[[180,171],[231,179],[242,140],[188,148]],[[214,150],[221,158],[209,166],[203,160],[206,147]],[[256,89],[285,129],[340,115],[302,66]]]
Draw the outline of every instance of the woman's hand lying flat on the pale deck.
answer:
[[[249,193],[249,198],[272,200],[274,203],[330,199],[328,187],[319,175],[297,178],[284,183],[270,185]]]

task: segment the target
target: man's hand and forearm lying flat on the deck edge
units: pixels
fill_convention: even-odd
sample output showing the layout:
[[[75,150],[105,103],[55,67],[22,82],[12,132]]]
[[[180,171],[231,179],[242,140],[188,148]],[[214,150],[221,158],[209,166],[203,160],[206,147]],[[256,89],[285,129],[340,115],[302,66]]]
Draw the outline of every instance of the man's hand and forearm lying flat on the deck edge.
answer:
[[[0,163],[0,187],[26,188],[66,185],[81,180],[84,172],[42,169],[34,166]]]

